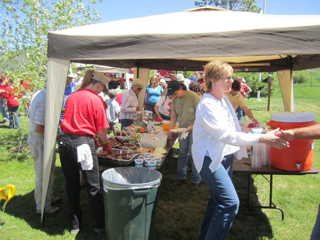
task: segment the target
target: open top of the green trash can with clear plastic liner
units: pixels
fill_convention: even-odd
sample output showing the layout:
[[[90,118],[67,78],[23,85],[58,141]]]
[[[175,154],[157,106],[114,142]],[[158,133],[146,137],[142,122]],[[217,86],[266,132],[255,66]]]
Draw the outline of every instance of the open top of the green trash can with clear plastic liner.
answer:
[[[162,174],[150,168],[118,167],[102,173],[105,187],[139,189],[159,185]]]

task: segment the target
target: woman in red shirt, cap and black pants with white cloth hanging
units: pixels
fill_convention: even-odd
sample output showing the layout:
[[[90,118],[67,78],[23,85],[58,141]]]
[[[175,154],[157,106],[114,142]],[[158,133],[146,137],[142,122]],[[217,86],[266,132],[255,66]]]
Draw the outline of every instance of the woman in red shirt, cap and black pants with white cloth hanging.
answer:
[[[80,89],[67,99],[59,144],[60,162],[66,177],[71,233],[77,234],[82,221],[79,170],[86,181],[89,203],[96,221],[94,232],[104,232],[104,206],[100,193],[96,148],[112,153],[108,143],[109,123],[105,104],[98,94],[108,91],[109,78],[101,72],[87,70]],[[97,142],[94,136],[99,135]]]

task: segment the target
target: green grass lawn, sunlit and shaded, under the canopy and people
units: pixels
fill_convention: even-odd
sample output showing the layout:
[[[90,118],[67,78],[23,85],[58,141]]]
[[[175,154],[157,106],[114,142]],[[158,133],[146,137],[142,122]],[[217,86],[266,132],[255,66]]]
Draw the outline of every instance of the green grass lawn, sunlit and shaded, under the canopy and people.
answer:
[[[305,110],[316,114],[320,122],[318,96],[320,84],[294,86],[295,110]],[[262,124],[270,121],[272,112],[284,111],[280,95],[272,95],[270,112],[266,112],[265,98],[254,102],[247,100],[253,115]],[[69,233],[68,206],[65,177],[63,176],[59,154],[56,160],[54,193],[62,198],[57,204],[61,211],[45,217],[45,226],[40,225],[40,216],[35,213],[33,198],[34,170],[33,160],[26,146],[28,133],[28,118],[20,117],[20,130],[9,129],[0,125],[0,187],[7,184],[16,186],[16,195],[11,199],[1,213],[2,229],[0,239],[74,239]],[[266,125],[265,125],[266,126]],[[23,138],[21,139],[21,136]],[[19,148],[20,140],[22,145]],[[314,166],[320,169],[320,150],[315,141]],[[19,153],[17,154],[17,151]],[[197,191],[189,191],[188,175],[186,183],[174,187],[177,173],[178,144],[174,146],[173,156],[166,159],[160,172],[163,175],[159,187],[159,202],[157,206],[156,239],[199,239],[200,228],[209,199],[208,189],[201,183]],[[106,168],[105,166],[102,166]],[[267,176],[268,177],[268,176]],[[236,186],[240,204],[246,199],[246,177],[234,174],[233,183]],[[320,203],[320,175],[281,176],[273,177],[273,203],[282,208],[285,213],[281,221],[279,210],[240,208],[227,239],[309,239]],[[268,183],[261,176],[254,178],[251,185],[251,203],[268,204]],[[1,201],[1,205],[4,201]],[[103,235],[93,233],[94,221],[88,206],[86,189],[81,190],[81,208],[83,210],[83,225],[76,236],[77,239],[104,239]],[[16,226],[15,228],[5,229]]]

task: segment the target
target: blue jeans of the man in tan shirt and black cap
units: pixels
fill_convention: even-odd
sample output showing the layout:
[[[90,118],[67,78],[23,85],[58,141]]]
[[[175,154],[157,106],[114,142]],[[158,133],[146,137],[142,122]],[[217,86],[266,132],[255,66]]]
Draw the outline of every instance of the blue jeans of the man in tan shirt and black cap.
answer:
[[[179,157],[178,157],[178,179],[186,179],[187,178],[187,163],[188,163],[188,153],[190,155],[191,161],[191,182],[192,183],[200,183],[201,176],[198,173],[194,159],[192,158],[191,146],[193,144],[192,131],[189,132],[188,136],[184,139],[181,139],[182,133],[179,133]]]

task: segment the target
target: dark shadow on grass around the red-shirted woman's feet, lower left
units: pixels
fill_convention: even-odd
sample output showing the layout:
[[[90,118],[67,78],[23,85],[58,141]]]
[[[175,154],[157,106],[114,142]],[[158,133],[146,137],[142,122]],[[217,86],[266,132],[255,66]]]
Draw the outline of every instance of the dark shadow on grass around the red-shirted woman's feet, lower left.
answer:
[[[69,210],[67,203],[67,193],[65,185],[65,176],[61,167],[55,169],[54,195],[61,197],[62,201],[55,204],[60,211],[54,214],[45,214],[44,226],[41,226],[41,216],[35,212],[34,191],[25,195],[15,195],[6,206],[6,213],[23,219],[32,229],[46,232],[50,236],[64,235],[71,236],[69,233]],[[83,213],[83,221],[80,232],[76,239],[104,239],[104,235],[98,235],[93,232],[94,219],[91,214],[89,199],[86,188],[81,189],[80,205]]]

